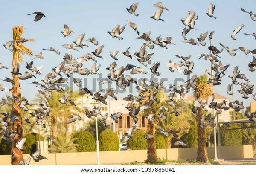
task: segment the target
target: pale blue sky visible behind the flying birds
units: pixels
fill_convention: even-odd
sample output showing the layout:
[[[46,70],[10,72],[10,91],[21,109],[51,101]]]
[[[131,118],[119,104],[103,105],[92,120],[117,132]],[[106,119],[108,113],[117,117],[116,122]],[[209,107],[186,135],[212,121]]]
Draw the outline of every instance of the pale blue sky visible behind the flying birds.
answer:
[[[136,1],[137,2],[137,1]],[[191,44],[183,43],[181,32],[185,27],[183,23],[180,21],[182,18],[186,18],[188,11],[195,11],[198,15],[199,19],[196,20],[195,28],[197,30],[192,30],[188,33],[187,38],[196,39],[204,32],[211,32],[215,30],[213,35],[212,44],[216,46],[218,49],[221,49],[219,42],[224,44],[224,46],[228,46],[230,48],[238,48],[239,46],[243,46],[247,49],[253,50],[256,49],[254,47],[255,40],[253,36],[244,35],[243,33],[253,33],[255,31],[256,22],[250,19],[250,15],[244,13],[240,10],[240,8],[244,8],[247,11],[253,11],[253,6],[256,6],[255,1],[243,0],[236,1],[236,3],[230,3],[224,0],[215,0],[215,1],[190,1],[190,0],[182,0],[182,1],[171,1],[171,0],[162,0],[162,3],[169,9],[169,11],[164,10],[161,18],[165,20],[156,21],[150,18],[156,12],[157,8],[153,6],[154,3],[158,3],[159,1],[155,0],[140,0],[140,5],[138,6],[136,12],[139,14],[138,17],[135,17],[132,14],[129,14],[125,8],[129,8],[129,6],[134,3],[134,0],[79,0],[79,1],[52,1],[52,0],[44,0],[44,1],[34,1],[34,0],[23,0],[22,3],[17,3],[15,1],[5,1],[0,6],[0,23],[1,23],[1,32],[0,32],[0,41],[2,44],[5,44],[7,41],[12,40],[12,27],[17,25],[23,25],[26,30],[26,38],[33,38],[36,41],[36,44],[25,43],[27,47],[32,49],[32,51],[37,55],[39,52],[43,52],[44,59],[34,60],[34,65],[44,67],[41,69],[42,75],[36,75],[37,79],[30,78],[26,81],[20,81],[20,86],[23,88],[22,95],[26,96],[28,99],[32,99],[38,92],[38,88],[28,83],[31,83],[34,80],[42,80],[44,75],[52,70],[56,65],[58,65],[61,61],[63,61],[64,53],[72,54],[73,58],[79,58],[80,56],[90,53],[94,51],[97,47],[101,45],[105,45],[102,50],[103,60],[97,58],[98,64],[102,66],[99,69],[99,72],[103,74],[103,77],[106,77],[108,71],[106,67],[109,66],[114,60],[110,57],[109,51],[119,51],[119,54],[116,56],[118,61],[118,67],[125,66],[126,63],[131,63],[137,66],[140,66],[133,58],[125,57],[122,55],[122,52],[131,46],[130,53],[133,55],[134,52],[139,51],[140,47],[144,43],[144,40],[135,39],[137,37],[137,33],[131,29],[130,26],[126,26],[124,32],[121,36],[124,38],[122,41],[117,40],[116,38],[112,38],[107,31],[111,31],[117,24],[123,26],[126,23],[126,20],[134,22],[137,24],[137,28],[140,34],[143,32],[148,32],[151,30],[151,38],[154,40],[157,36],[162,35],[163,40],[167,36],[172,36],[172,41],[176,45],[168,45],[168,50],[165,48],[160,48],[159,46],[154,45],[154,49],[148,49],[148,53],[154,52],[151,60],[152,62],[160,61],[161,65],[159,71],[161,73],[160,78],[168,78],[168,81],[165,82],[165,85],[173,84],[175,78],[186,78],[186,75],[178,73],[175,71],[171,73],[166,66],[166,62],[170,59],[172,62],[180,62],[180,58],[176,58],[175,55],[188,56],[192,55],[190,61],[194,61],[194,69],[193,74],[201,75],[204,73],[205,69],[210,68],[209,61],[205,61],[203,58],[198,60],[201,53],[207,52],[209,50],[207,47],[209,46],[209,38],[206,38],[207,45],[206,46],[193,46]],[[209,3],[213,2],[216,4],[214,15],[217,19],[210,18],[206,15]],[[34,22],[35,15],[27,15],[29,13],[33,13],[35,11],[43,12],[47,18],[42,18],[38,22]],[[256,13],[256,10],[255,12]],[[75,31],[72,33],[73,37],[64,38],[60,31],[63,31],[64,24],[67,24],[70,29]],[[237,26],[244,24],[244,28],[237,34],[237,40],[234,41],[230,35],[233,30],[236,29]],[[86,44],[89,47],[84,47],[84,49],[79,49],[80,52],[68,50],[63,48],[63,44],[73,43],[76,40],[76,37],[85,33],[84,41],[87,38],[95,37],[97,41],[99,41],[99,45],[95,46],[87,41]],[[43,51],[42,49],[48,49],[49,47],[55,47],[58,49],[61,54],[57,55],[54,52]],[[11,78],[10,69],[12,66],[12,52],[5,49],[3,46],[0,47],[1,59],[0,63],[5,64],[9,67],[9,70],[1,69],[1,79],[4,77]],[[224,50],[221,54],[219,54],[221,58],[219,60],[224,64],[230,64],[230,67],[226,71],[226,75],[220,81],[222,84],[220,86],[215,86],[215,92],[219,93],[223,96],[227,96],[232,99],[232,96],[228,96],[226,93],[227,84],[231,83],[231,79],[228,78],[228,75],[233,74],[233,68],[235,66],[239,66],[239,70],[241,73],[244,73],[248,79],[250,79],[253,84],[256,84],[256,80],[254,77],[256,72],[250,72],[248,70],[249,61],[252,61],[253,55],[249,56],[245,55],[240,50],[236,51],[236,56],[232,57],[228,54],[226,50]],[[30,62],[31,58],[29,56],[23,57],[24,63]],[[23,74],[26,71],[25,64],[20,65],[20,72]],[[91,63],[84,63],[84,67],[91,69]],[[143,67],[149,73],[146,75],[132,75],[137,78],[149,78],[151,77],[151,73],[149,68],[151,65],[147,67]],[[183,68],[182,68],[183,69]],[[130,75],[128,72],[125,72],[125,75]],[[97,75],[94,75],[97,76]],[[88,89],[92,89],[92,77],[91,75],[80,76],[78,74],[74,75],[74,77],[82,78],[86,77],[88,82]],[[239,82],[244,82],[239,79]],[[1,81],[0,84],[11,88],[11,85]],[[113,85],[113,84],[112,84]],[[241,94],[237,92],[240,89],[240,86],[234,86],[235,90],[235,99],[243,100],[244,105],[249,105],[251,101],[251,97],[249,99],[242,99]],[[136,94],[136,90],[134,89],[134,94]],[[4,96],[6,93],[1,92],[0,96]],[[123,97],[126,93],[119,93],[117,97]]]

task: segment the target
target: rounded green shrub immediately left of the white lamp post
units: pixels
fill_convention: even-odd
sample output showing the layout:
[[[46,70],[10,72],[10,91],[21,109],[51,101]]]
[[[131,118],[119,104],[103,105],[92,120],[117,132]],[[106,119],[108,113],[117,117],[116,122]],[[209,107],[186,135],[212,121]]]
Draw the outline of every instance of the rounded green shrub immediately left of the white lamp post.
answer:
[[[75,133],[74,138],[77,138],[74,143],[77,152],[93,152],[96,151],[96,142],[93,135],[88,131],[79,131]]]

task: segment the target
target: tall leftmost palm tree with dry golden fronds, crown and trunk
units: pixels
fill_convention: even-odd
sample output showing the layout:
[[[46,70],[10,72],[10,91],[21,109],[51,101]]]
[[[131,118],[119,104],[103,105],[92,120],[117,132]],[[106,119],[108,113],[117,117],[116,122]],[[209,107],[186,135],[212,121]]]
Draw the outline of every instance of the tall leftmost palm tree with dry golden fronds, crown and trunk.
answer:
[[[13,39],[14,39],[14,42],[12,44],[12,48],[13,48],[12,70],[15,67],[15,65],[19,64],[19,62],[23,63],[23,59],[21,55],[24,55],[24,54],[29,56],[33,55],[32,50],[24,46],[23,42],[34,41],[34,40],[21,38],[21,35],[23,34],[23,29],[24,29],[23,26],[16,26],[16,27],[13,27],[12,29]],[[21,99],[19,75],[12,74],[12,80],[14,81],[14,84],[12,85],[12,93],[14,96],[17,96],[19,99]],[[21,136],[23,136],[21,110],[20,110],[20,107],[18,107],[18,104],[19,103],[12,102],[12,115],[18,116],[20,118],[20,120],[16,119],[14,124],[12,125],[12,130],[18,132],[15,138],[12,139],[12,158],[11,158],[12,165],[20,165],[20,161],[23,160],[23,151],[19,151],[16,147],[20,138],[22,138]]]

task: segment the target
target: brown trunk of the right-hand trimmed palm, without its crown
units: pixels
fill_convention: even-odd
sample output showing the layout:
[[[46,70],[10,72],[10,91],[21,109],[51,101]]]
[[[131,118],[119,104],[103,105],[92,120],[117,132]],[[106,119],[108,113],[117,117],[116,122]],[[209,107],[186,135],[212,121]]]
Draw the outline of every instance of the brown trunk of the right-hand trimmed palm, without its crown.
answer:
[[[203,115],[202,107],[198,109],[198,152],[197,152],[197,160],[200,162],[209,162],[208,161],[208,153],[206,148],[205,141],[205,131],[200,128],[201,124],[201,116]]]

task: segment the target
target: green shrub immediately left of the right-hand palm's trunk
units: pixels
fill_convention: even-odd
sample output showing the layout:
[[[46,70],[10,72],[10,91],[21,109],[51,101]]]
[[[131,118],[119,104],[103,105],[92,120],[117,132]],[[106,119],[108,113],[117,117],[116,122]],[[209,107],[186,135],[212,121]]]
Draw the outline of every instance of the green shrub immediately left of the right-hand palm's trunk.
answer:
[[[187,145],[188,148],[197,148],[197,125],[191,125],[189,132],[185,133],[180,139]]]

